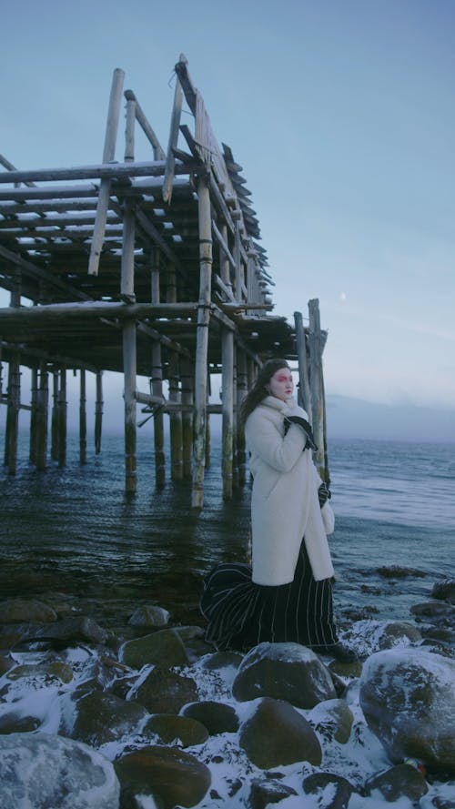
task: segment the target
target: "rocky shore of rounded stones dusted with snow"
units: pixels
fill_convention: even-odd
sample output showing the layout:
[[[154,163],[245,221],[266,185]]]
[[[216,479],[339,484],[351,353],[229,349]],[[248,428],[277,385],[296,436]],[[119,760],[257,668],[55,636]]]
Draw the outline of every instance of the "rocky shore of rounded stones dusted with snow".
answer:
[[[166,609],[0,602],[2,809],[455,809],[455,580],[342,664],[216,652]]]

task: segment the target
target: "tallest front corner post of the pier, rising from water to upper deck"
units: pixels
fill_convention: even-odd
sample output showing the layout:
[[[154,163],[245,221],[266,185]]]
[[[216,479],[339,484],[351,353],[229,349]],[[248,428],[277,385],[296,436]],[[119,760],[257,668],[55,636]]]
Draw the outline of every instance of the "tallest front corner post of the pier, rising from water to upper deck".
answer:
[[[204,467],[206,460],[207,351],[210,322],[212,238],[210,194],[207,176],[197,183],[199,211],[199,306],[197,308],[197,348],[195,368],[195,415],[193,445],[193,487],[191,505],[204,504]]]

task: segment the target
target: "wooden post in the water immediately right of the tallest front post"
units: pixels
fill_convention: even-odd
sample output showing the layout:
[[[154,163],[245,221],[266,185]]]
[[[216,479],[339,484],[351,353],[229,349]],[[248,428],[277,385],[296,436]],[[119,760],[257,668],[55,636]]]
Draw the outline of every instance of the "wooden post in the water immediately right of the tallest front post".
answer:
[[[234,454],[234,335],[223,329],[221,335],[222,393],[222,479],[223,499],[232,499],[232,463]]]

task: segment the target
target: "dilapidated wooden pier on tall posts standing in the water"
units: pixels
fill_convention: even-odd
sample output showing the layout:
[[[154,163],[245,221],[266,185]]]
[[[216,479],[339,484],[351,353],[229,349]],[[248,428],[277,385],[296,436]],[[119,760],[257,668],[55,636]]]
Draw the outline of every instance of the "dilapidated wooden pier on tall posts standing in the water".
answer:
[[[137,408],[154,420],[157,486],[170,470],[192,480],[203,506],[207,417],[222,414],[222,496],[246,477],[238,405],[264,360],[297,363],[299,395],[313,422],[327,480],[322,352],[317,300],[308,325],[272,314],[268,258],[242,167],[219,147],[203,98],[180,56],[167,150],[124,72],[114,71],[101,162],[17,170],[0,156],[0,401],[5,464],[16,471],[19,410],[30,411],[30,462],[66,463],[66,374],[80,378],[80,460],[86,460],[86,373],[96,375],[95,446],[101,450],[103,371],[123,373],[125,487],[136,491]],[[116,162],[122,100],[123,162]],[[192,127],[181,123],[186,102]],[[191,120],[186,116],[185,120]],[[150,161],[135,160],[136,127]],[[302,284],[303,286],[303,284]],[[21,366],[31,369],[22,402]],[[209,402],[221,377],[221,400]],[[138,379],[144,385],[138,389]],[[148,388],[147,388],[148,385]],[[52,403],[50,404],[50,400]]]

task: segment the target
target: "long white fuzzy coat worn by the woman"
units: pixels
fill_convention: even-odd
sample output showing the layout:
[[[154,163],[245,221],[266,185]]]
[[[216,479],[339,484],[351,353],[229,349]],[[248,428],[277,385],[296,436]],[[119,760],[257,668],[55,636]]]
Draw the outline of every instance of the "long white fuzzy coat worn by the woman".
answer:
[[[327,534],[334,528],[329,503],[319,507],[322,482],[297,424],[284,434],[284,416],[308,420],[294,399],[263,399],[248,416],[245,436],[253,475],[251,531],[253,581],[286,584],[294,578],[302,538],[317,581],[333,576]]]

